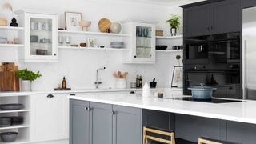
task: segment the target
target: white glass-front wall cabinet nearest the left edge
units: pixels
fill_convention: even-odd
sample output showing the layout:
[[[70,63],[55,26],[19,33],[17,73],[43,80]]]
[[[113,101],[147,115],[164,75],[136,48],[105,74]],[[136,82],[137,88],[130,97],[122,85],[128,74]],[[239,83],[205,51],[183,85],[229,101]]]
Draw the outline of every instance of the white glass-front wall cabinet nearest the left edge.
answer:
[[[24,26],[24,48],[18,49],[20,62],[58,61],[58,15],[38,10],[18,10],[18,23]]]

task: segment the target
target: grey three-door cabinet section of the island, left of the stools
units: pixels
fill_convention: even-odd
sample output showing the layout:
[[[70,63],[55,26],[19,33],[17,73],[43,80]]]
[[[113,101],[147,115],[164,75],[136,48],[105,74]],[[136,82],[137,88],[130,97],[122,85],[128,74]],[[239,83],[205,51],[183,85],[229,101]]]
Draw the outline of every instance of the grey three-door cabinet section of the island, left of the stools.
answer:
[[[142,110],[70,100],[70,144],[141,144]]]

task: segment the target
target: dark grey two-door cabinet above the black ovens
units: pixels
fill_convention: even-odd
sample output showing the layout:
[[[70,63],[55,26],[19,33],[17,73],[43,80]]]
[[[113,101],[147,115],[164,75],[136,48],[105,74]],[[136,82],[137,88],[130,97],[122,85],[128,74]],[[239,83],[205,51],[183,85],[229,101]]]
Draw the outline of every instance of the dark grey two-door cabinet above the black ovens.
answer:
[[[184,36],[238,32],[242,29],[240,0],[225,0],[184,8]]]

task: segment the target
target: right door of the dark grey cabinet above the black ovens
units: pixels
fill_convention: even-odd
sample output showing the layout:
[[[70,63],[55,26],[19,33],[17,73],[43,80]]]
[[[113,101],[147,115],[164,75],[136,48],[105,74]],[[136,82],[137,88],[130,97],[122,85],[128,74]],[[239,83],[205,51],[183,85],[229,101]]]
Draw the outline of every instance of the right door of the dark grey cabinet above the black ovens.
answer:
[[[237,32],[242,26],[240,0],[226,0],[210,4],[211,34]]]

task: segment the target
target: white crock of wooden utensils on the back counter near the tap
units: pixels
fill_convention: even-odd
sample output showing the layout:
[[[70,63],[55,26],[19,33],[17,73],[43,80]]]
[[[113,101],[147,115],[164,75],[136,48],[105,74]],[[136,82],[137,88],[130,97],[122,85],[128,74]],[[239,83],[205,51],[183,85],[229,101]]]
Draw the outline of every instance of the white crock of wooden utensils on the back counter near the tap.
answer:
[[[113,76],[114,76],[114,78],[116,78],[116,82],[115,82],[116,89],[126,89],[127,88],[126,78],[128,76],[128,72],[124,72],[124,73],[122,73],[121,71],[114,72]]]

